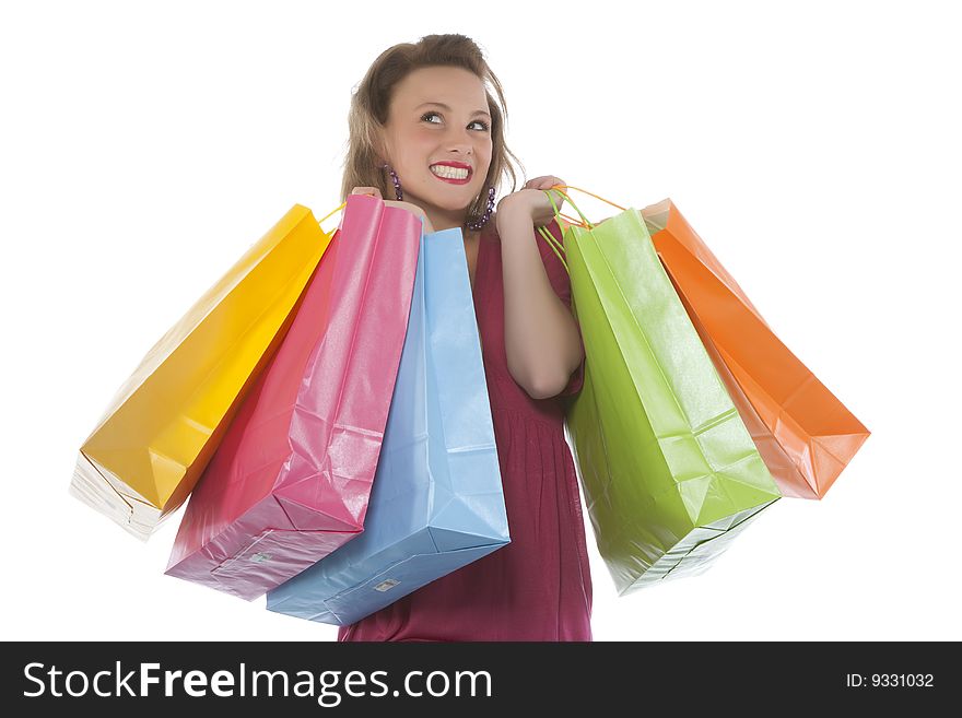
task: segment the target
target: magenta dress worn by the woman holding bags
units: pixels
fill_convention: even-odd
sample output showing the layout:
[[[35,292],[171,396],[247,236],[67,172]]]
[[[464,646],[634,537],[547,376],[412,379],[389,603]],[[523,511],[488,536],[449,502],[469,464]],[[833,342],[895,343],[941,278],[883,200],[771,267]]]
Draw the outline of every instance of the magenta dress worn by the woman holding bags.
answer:
[[[531,399],[512,378],[504,344],[501,239],[482,232],[474,311],[504,483],[511,543],[432,581],[350,626],[338,640],[591,640],[591,576],[577,475],[564,440],[566,397],[584,381],[585,360],[565,389]],[[561,239],[555,222],[551,234]],[[537,232],[551,286],[568,309],[564,266]]]

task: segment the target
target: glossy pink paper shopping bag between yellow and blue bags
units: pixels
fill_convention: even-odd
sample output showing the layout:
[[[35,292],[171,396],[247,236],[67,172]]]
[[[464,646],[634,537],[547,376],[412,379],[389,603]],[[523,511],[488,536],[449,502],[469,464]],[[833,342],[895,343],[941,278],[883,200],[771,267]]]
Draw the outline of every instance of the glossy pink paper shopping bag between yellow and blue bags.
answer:
[[[271,363],[204,471],[167,575],[253,600],[364,528],[421,222],[353,195]]]

